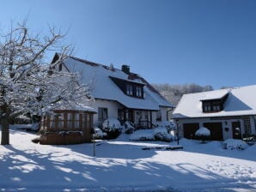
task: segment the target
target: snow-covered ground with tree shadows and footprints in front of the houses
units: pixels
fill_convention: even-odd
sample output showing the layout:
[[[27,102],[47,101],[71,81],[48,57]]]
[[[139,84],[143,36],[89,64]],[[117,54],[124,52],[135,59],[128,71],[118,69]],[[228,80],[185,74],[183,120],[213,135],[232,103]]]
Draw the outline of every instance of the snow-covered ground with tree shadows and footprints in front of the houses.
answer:
[[[0,191],[256,191],[256,146],[222,149],[219,141],[115,141],[43,146],[36,135],[10,131],[0,146]],[[150,150],[142,150],[151,147]]]

